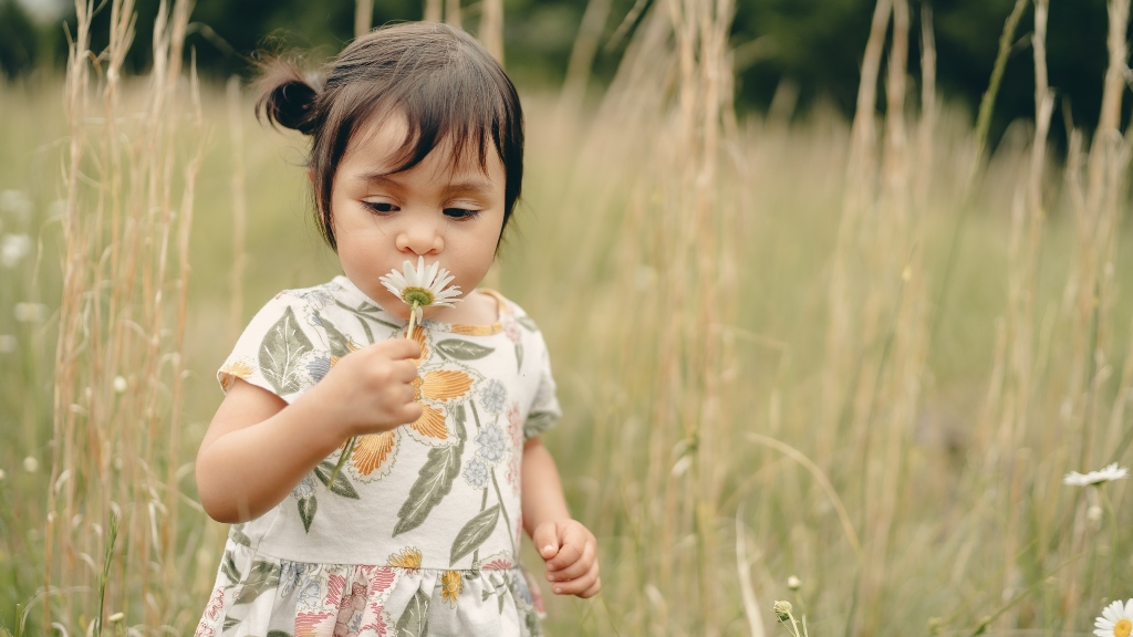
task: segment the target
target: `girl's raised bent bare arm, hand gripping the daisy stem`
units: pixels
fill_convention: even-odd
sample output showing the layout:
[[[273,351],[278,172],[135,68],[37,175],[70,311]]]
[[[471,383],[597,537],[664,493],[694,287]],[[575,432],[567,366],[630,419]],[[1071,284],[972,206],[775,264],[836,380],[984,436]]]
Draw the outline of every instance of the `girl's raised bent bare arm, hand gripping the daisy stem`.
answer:
[[[197,452],[197,490],[210,517],[241,523],[287,498],[318,462],[355,435],[416,422],[420,347],[382,341],[343,356],[291,405],[237,380]]]

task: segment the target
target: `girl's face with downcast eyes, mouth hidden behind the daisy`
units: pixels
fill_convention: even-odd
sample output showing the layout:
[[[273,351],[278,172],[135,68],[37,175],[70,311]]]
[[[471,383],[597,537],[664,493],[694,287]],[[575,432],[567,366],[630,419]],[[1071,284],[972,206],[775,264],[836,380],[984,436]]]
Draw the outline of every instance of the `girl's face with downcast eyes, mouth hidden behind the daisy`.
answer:
[[[409,317],[409,307],[378,279],[401,269],[440,262],[463,295],[484,279],[503,229],[503,162],[489,153],[487,171],[475,148],[453,158],[442,141],[420,163],[392,172],[408,134],[403,117],[367,125],[350,142],[331,186],[331,223],[342,271],[386,312]],[[426,307],[425,316],[460,323],[461,306]]]

